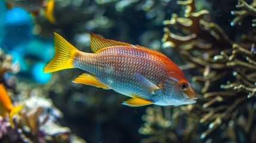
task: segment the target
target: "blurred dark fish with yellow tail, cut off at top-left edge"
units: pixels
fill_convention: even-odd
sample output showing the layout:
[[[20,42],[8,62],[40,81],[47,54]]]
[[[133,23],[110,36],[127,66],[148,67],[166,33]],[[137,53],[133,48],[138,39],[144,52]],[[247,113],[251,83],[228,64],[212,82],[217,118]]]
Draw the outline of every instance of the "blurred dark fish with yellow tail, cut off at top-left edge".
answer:
[[[23,10],[29,11],[32,15],[39,15],[39,11],[44,9],[45,17],[47,20],[55,24],[56,20],[54,18],[54,0],[44,1],[44,0],[4,0],[7,2],[8,8],[20,7]],[[45,4],[44,4],[45,3]],[[45,5],[45,6],[44,6]]]

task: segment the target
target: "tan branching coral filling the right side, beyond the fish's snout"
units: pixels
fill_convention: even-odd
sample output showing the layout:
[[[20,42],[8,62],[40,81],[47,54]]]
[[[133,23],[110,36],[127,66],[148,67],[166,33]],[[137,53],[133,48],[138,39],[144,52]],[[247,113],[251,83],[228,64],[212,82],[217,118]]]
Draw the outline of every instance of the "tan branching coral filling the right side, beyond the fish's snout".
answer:
[[[244,1],[239,2],[239,8],[247,7]],[[209,11],[195,12],[194,1],[177,1],[177,4],[186,5],[184,17],[172,14],[171,20],[164,21],[163,46],[179,51],[190,63],[183,67],[199,74],[193,76],[193,82],[203,85],[198,104],[181,106],[177,114],[186,114],[183,123],[192,123],[190,119],[196,120],[193,123],[198,124],[201,130],[196,131],[198,137],[193,138],[193,141],[255,142],[255,106],[252,105],[256,89],[254,43],[238,44],[230,40],[218,24],[206,20]],[[174,28],[178,28],[179,33],[172,33]],[[173,122],[168,118],[166,120]],[[242,123],[247,121],[251,126],[243,126]],[[150,120],[147,122],[152,123]],[[145,123],[144,126],[148,125]],[[172,124],[170,130],[162,129],[167,134],[165,142],[175,142],[175,137],[168,136],[175,130],[172,126],[176,125]],[[158,128],[162,127],[150,125],[150,128],[156,131],[151,134],[156,135]],[[233,131],[227,133],[231,129]],[[215,135],[217,132],[218,136]]]

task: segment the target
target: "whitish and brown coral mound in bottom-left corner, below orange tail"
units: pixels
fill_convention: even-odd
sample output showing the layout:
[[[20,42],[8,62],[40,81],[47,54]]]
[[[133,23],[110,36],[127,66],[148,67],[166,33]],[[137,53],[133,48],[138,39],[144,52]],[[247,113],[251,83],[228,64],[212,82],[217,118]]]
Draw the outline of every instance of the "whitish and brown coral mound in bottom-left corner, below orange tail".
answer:
[[[63,114],[54,107],[51,100],[33,96],[20,102],[24,103],[24,108],[14,118],[15,128],[11,128],[7,118],[1,119],[0,134],[4,141],[85,142],[73,135],[69,128],[56,123]]]

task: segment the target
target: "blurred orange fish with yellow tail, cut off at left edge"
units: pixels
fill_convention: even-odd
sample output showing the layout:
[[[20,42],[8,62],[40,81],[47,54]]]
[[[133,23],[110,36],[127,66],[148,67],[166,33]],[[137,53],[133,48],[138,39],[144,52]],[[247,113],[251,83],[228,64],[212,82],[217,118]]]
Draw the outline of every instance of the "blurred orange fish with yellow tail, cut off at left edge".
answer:
[[[5,117],[9,114],[12,128],[14,128],[13,116],[17,114],[23,106],[23,104],[13,106],[7,91],[4,88],[4,84],[0,83],[0,116]]]

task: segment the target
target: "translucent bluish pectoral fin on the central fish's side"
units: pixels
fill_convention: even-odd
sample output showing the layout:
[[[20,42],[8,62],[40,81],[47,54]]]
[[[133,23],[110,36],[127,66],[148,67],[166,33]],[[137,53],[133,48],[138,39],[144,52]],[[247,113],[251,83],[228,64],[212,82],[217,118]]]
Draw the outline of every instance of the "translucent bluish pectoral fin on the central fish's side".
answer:
[[[154,83],[150,82],[146,77],[142,76],[141,74],[135,73],[135,77],[141,82],[141,87],[149,89],[151,94],[154,94],[156,89],[160,89],[159,86],[155,85]]]

